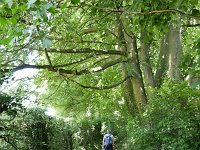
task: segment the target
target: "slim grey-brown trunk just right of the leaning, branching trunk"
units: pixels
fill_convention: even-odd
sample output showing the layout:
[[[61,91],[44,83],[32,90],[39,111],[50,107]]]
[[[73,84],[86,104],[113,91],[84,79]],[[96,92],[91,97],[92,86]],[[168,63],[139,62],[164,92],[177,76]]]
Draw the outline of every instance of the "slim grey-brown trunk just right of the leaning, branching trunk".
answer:
[[[146,32],[147,31],[145,30],[141,32],[141,65],[144,74],[145,85],[147,85],[147,87],[155,87],[155,81],[149,56],[150,42],[145,41],[145,37],[148,36]]]

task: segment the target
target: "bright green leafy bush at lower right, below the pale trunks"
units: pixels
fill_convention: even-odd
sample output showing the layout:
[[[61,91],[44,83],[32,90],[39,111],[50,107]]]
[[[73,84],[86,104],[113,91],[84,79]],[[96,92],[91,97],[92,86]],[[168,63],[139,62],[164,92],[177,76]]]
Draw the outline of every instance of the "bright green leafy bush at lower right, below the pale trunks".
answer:
[[[200,93],[186,83],[165,83],[153,91],[142,116],[128,126],[129,149],[200,148]]]

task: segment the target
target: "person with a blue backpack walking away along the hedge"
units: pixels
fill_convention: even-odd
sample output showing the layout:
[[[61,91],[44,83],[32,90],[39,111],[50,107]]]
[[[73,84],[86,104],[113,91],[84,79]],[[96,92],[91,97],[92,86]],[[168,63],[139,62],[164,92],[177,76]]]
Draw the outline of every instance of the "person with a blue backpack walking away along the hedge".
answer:
[[[103,137],[103,150],[113,150],[114,148],[114,136],[111,134],[109,130],[107,130],[106,134]]]

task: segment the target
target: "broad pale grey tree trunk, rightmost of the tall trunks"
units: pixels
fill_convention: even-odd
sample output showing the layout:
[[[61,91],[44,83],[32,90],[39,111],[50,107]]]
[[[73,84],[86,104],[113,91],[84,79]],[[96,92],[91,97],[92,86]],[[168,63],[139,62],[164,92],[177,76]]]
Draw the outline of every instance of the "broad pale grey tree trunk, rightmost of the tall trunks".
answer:
[[[168,76],[171,80],[180,80],[179,65],[181,63],[182,41],[181,27],[170,26],[169,31],[169,58]]]

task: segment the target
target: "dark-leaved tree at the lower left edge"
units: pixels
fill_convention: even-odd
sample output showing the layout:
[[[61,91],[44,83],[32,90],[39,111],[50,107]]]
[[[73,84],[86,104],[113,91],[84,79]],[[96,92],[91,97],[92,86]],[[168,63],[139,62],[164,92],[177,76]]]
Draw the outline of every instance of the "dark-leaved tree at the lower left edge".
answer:
[[[10,77],[5,74],[1,74],[0,81],[2,85]],[[20,92],[9,93],[5,91],[0,92],[0,143],[1,148],[4,145],[8,145],[10,149],[18,149],[17,140],[13,139],[13,133],[15,130],[15,124],[13,124],[16,116],[24,109],[22,106],[22,97]]]

